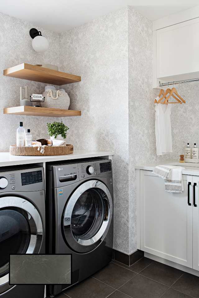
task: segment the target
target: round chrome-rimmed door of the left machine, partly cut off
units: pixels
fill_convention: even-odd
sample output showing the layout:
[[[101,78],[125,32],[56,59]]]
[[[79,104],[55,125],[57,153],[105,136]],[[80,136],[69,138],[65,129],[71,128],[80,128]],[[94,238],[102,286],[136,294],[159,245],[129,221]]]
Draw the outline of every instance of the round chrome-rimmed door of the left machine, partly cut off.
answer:
[[[11,287],[9,254],[38,253],[41,227],[39,212],[29,201],[17,196],[0,197],[0,293]]]

